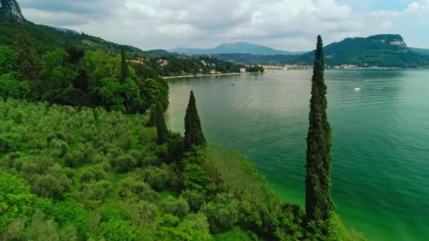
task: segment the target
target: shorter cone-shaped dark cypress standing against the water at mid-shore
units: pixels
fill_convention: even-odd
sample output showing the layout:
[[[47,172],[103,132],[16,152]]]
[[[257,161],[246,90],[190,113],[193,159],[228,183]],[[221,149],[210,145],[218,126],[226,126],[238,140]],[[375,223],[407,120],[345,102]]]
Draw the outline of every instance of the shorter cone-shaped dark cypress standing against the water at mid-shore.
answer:
[[[191,91],[189,97],[188,109],[185,116],[185,139],[183,140],[183,149],[188,152],[192,146],[204,146],[206,144],[203,129],[201,128],[200,117],[198,116],[197,106],[195,105],[195,96]]]

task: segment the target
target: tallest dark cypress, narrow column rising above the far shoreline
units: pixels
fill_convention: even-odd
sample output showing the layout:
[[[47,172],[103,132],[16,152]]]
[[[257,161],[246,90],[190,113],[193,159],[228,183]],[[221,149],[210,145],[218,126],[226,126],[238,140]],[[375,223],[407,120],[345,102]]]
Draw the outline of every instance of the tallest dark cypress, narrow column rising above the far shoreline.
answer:
[[[325,57],[322,37],[318,36],[313,69],[310,127],[306,156],[306,216],[308,221],[326,220],[335,209],[331,189],[331,128],[327,121],[327,87],[325,85]]]

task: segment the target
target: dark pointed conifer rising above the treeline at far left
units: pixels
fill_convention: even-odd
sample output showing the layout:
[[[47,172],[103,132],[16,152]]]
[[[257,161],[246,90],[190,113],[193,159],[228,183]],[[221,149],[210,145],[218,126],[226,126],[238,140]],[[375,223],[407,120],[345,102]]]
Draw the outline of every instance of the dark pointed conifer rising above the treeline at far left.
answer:
[[[33,80],[37,72],[36,55],[32,49],[32,42],[21,27],[18,30],[18,63],[23,78]]]

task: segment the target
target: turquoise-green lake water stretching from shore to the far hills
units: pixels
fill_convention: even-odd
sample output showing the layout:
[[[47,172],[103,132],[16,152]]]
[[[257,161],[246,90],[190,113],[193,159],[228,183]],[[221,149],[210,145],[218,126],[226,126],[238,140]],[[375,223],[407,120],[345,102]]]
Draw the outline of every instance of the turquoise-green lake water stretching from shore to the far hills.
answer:
[[[303,204],[311,75],[170,80],[167,121],[183,133],[193,89],[207,139],[248,155],[284,201]],[[371,240],[429,240],[429,70],[327,70],[326,82],[342,220]]]

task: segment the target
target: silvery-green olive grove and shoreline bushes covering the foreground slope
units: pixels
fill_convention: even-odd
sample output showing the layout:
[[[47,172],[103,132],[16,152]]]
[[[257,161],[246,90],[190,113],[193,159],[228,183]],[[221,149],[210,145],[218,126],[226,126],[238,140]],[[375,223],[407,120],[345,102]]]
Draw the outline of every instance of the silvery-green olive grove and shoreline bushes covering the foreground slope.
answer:
[[[211,240],[210,230],[236,225],[253,239],[318,235],[245,156],[219,147],[182,154],[180,135],[159,145],[148,120],[0,99],[0,239]],[[340,224],[318,237],[342,237]]]

